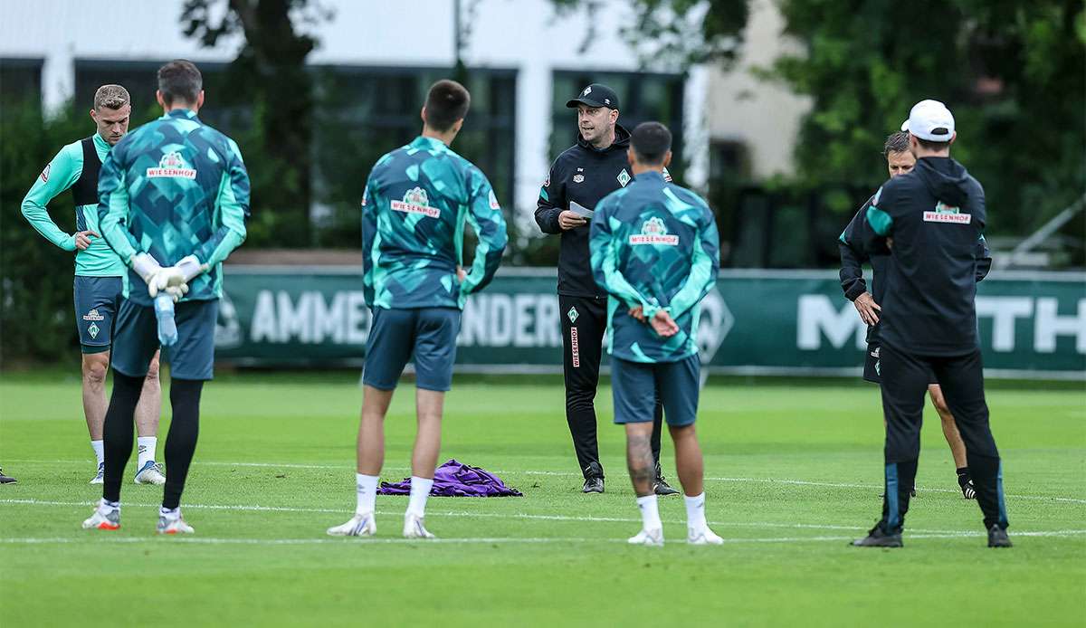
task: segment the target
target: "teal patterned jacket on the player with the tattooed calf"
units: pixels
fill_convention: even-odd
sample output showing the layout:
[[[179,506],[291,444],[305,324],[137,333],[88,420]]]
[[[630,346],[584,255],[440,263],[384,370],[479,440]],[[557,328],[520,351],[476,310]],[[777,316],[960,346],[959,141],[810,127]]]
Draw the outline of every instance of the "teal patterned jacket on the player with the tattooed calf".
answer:
[[[592,274],[610,296],[608,352],[632,362],[678,362],[697,352],[702,299],[720,269],[720,238],[709,205],[649,171],[604,197],[592,216]],[[679,325],[670,338],[630,316],[664,309]]]

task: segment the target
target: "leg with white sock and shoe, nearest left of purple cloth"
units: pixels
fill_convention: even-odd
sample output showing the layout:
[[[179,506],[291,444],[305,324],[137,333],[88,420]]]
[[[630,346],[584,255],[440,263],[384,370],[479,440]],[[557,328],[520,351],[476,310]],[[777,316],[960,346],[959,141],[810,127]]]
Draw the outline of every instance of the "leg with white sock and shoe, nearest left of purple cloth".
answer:
[[[433,472],[441,453],[441,415],[445,406],[445,393],[419,388],[415,393],[418,417],[418,434],[411,456],[411,500],[404,514],[404,537],[408,539],[432,539],[424,525],[426,499],[433,487]]]

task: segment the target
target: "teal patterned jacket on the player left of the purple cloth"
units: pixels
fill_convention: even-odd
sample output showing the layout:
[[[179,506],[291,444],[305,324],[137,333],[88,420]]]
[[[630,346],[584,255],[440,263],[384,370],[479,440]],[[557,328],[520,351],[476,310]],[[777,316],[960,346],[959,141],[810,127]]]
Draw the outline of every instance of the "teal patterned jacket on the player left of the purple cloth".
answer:
[[[464,224],[479,237],[459,282]],[[362,198],[363,289],[370,307],[464,307],[494,277],[508,236],[487,176],[419,136],[374,165]]]

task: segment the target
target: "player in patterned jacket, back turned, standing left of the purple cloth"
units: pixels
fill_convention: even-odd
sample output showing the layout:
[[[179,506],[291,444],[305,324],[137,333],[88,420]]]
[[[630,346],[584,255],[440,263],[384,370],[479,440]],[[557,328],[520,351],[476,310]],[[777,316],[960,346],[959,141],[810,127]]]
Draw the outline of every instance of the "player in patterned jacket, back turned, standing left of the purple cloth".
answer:
[[[411,498],[403,535],[431,539],[426,500],[441,450],[441,415],[452,387],[456,335],[468,294],[494,277],[508,239],[497,198],[478,167],[449,147],[471,97],[454,80],[430,87],[422,135],[384,154],[362,197],[363,290],[372,312],[358,426],[357,506],[336,537],[377,531],[374,508],[384,464],[384,415],[407,362],[415,363],[418,435],[412,453]],[[462,269],[464,223],[479,243]]]

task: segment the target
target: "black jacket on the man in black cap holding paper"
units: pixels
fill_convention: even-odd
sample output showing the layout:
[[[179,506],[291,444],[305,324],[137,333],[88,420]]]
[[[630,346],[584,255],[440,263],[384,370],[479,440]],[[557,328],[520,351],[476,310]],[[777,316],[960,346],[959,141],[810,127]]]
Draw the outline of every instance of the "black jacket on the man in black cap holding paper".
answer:
[[[551,165],[551,174],[540,189],[535,222],[544,234],[561,235],[558,250],[559,294],[607,298],[592,278],[590,225],[563,231],[558,226],[558,214],[569,209],[570,201],[595,210],[601,199],[633,180],[626,156],[629,148],[630,133],[615,125],[615,143],[597,150],[578,134],[577,143],[566,149]]]

